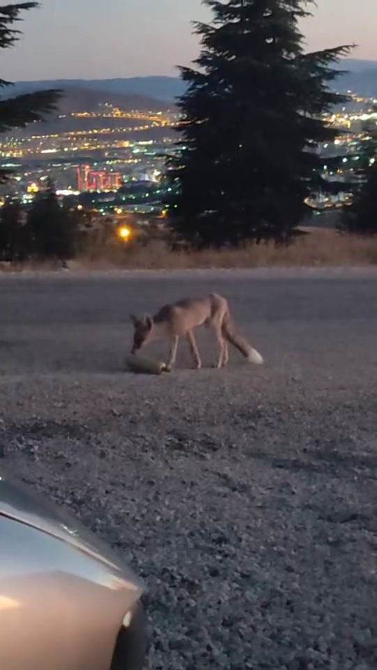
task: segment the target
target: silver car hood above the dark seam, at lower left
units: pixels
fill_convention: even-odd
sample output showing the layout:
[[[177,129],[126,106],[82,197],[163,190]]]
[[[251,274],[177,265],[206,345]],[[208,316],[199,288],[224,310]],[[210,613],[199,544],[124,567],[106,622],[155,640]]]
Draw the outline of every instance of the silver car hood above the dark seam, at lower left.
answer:
[[[0,473],[0,515],[68,542],[78,551],[87,553],[108,565],[114,572],[121,573],[119,576],[132,581],[136,588],[144,590],[142,581],[94,533],[34,490],[2,473]]]

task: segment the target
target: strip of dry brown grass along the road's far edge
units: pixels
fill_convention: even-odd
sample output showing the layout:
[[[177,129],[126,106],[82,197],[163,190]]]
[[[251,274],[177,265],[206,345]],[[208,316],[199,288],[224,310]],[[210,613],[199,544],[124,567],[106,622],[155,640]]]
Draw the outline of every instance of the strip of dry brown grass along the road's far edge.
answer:
[[[377,265],[377,237],[339,234],[335,230],[310,229],[290,246],[246,244],[239,249],[219,251],[170,251],[164,241],[125,250],[121,246],[98,246],[88,255],[69,263],[72,270],[205,269],[257,267],[366,267]],[[0,265],[3,271],[60,269],[48,262]]]

